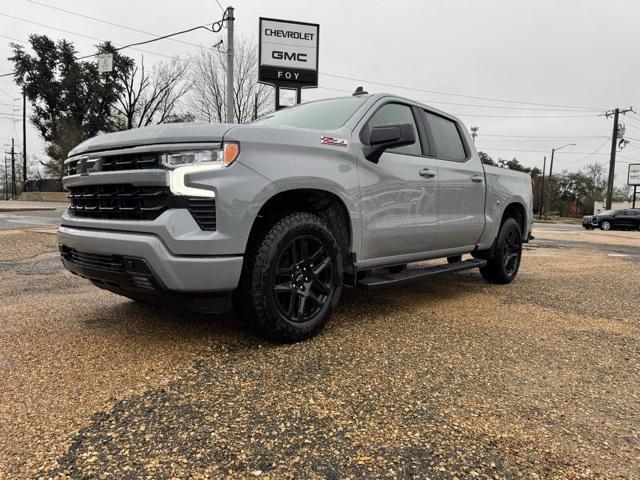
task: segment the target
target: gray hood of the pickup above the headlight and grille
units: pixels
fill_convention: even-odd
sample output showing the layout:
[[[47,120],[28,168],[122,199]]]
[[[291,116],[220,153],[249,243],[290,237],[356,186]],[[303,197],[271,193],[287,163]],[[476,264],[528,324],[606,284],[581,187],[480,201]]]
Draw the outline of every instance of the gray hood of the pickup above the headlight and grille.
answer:
[[[134,128],[90,138],[71,150],[69,156],[159,143],[220,142],[225,133],[237,126],[231,123],[165,123]]]

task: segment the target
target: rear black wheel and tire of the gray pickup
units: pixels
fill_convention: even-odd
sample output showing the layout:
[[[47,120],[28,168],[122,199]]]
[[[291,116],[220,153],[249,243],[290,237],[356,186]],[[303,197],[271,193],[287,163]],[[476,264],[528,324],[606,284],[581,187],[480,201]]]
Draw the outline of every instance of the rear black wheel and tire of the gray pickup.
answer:
[[[518,274],[522,258],[522,231],[513,218],[507,218],[500,228],[493,257],[480,268],[480,274],[489,283],[511,283]]]

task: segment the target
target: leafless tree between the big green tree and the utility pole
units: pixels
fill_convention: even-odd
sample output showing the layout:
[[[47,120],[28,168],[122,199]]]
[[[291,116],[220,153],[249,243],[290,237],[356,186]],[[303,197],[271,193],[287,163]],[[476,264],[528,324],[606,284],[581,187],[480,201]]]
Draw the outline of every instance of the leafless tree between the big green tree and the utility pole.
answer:
[[[174,59],[158,63],[150,74],[143,58],[139,65],[120,72],[124,88],[115,109],[124,119],[124,128],[144,127],[172,118],[191,86],[188,69],[187,62]]]

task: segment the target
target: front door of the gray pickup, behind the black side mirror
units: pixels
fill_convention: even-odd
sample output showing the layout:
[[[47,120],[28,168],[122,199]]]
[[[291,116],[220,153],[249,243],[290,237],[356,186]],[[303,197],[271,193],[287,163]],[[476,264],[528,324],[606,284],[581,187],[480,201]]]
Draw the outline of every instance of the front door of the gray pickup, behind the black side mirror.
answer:
[[[413,124],[416,142],[386,151],[379,162],[358,162],[362,204],[362,260],[435,249],[438,171],[416,127],[418,112],[398,103],[382,103],[365,126]],[[363,126],[363,128],[365,128]]]

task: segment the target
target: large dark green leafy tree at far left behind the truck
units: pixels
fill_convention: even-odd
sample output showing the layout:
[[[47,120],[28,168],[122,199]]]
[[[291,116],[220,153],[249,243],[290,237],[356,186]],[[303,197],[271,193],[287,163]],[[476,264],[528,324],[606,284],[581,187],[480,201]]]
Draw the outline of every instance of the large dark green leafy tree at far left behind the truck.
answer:
[[[133,60],[116,52],[109,43],[97,45],[98,53],[113,54],[113,72],[98,73],[94,61],[76,59],[74,46],[54,42],[46,35],[30,35],[32,53],[11,44],[15,81],[33,106],[30,117],[46,143],[50,160],[46,172],[62,177],[69,151],[97,134],[118,129],[112,108],[123,85],[118,72],[130,70]]]

